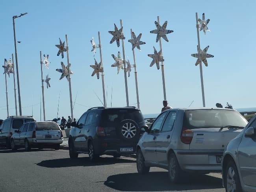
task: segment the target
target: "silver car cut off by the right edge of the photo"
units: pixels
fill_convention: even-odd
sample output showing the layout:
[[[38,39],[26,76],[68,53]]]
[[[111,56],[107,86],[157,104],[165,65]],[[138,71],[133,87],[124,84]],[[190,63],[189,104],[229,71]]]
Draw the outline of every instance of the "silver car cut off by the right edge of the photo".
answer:
[[[222,164],[226,191],[256,191],[256,116],[228,143]]]

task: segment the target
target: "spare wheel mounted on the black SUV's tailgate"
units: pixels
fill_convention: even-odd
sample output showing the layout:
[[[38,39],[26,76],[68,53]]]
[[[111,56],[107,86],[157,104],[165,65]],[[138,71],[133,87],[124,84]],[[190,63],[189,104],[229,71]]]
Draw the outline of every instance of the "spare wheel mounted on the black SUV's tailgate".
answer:
[[[130,119],[122,120],[118,127],[118,134],[123,140],[132,141],[140,135],[138,124]]]

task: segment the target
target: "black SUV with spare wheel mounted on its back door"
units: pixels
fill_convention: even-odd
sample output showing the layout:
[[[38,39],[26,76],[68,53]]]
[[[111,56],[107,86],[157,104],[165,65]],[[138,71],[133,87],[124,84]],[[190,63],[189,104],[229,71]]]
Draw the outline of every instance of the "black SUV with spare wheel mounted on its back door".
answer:
[[[90,161],[100,155],[134,154],[146,126],[141,111],[136,107],[93,107],[82,114],[69,133],[69,156],[89,154]]]

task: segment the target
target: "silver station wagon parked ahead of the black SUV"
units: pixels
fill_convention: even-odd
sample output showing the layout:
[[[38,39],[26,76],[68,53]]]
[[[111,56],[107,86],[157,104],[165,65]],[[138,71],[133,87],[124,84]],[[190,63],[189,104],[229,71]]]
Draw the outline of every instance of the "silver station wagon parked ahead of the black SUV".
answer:
[[[59,150],[62,142],[63,135],[56,122],[29,122],[23,124],[11,136],[11,149],[25,147],[26,151],[30,151],[31,148]]]

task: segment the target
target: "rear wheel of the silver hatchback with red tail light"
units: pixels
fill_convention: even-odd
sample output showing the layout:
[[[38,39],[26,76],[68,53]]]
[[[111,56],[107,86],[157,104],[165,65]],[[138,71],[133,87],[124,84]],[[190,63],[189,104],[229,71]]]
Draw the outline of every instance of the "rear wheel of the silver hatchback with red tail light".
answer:
[[[182,170],[180,168],[178,159],[176,158],[176,155],[174,153],[171,153],[169,156],[169,178],[171,180],[171,183],[178,183],[182,176]]]

